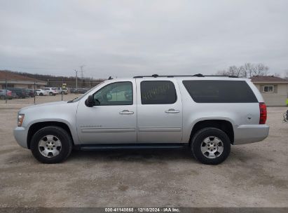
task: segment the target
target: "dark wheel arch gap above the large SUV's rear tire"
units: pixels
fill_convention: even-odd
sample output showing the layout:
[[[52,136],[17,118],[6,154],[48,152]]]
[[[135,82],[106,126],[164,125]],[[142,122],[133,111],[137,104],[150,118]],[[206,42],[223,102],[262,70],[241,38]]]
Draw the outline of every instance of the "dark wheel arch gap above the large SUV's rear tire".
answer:
[[[193,135],[198,132],[198,130],[201,130],[203,128],[218,128],[226,133],[228,135],[231,144],[234,142],[234,130],[233,125],[231,121],[227,121],[224,119],[207,119],[207,120],[201,120],[196,122],[193,125],[193,128],[191,130],[191,135],[189,138],[189,143],[191,142],[191,139],[193,138]]]

